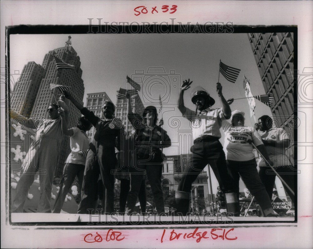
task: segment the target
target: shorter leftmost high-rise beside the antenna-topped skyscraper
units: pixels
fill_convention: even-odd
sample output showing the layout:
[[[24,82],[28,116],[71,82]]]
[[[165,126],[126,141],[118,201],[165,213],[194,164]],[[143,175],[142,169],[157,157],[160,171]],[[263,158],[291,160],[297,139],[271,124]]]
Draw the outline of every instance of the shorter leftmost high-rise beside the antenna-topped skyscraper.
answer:
[[[14,84],[11,110],[23,116],[30,116],[45,73],[45,69],[33,61],[24,66],[21,77]]]

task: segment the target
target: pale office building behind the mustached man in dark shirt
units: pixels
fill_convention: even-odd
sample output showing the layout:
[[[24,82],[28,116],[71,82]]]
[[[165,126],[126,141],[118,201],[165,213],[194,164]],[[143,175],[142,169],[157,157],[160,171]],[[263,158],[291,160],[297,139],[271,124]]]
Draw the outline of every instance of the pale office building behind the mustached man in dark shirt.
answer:
[[[90,111],[93,111],[96,116],[101,118],[102,116],[102,106],[105,101],[111,101],[108,94],[105,92],[101,93],[90,93],[87,94],[86,98],[86,108]],[[91,127],[89,131],[87,131],[87,136],[89,141],[92,141],[92,138],[95,135],[95,127]]]

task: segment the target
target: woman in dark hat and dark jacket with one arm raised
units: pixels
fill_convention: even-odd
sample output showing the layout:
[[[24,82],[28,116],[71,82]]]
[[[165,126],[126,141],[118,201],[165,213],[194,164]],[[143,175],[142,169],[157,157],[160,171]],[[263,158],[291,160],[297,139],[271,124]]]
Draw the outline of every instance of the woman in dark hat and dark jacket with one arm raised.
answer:
[[[131,189],[127,196],[126,213],[131,214],[136,205],[141,180],[146,175],[152,189],[156,210],[164,212],[164,200],[161,187],[162,151],[161,148],[171,146],[167,132],[156,125],[157,111],[154,106],[148,106],[142,116],[131,111],[131,96],[128,99],[128,119],[136,130],[135,165],[130,167]]]

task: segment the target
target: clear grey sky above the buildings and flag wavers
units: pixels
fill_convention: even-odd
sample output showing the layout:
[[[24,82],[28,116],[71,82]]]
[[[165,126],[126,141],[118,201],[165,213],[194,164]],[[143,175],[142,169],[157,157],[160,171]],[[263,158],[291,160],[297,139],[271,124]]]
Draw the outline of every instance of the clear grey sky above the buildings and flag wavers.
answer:
[[[179,129],[190,129],[188,120],[182,118],[176,107],[180,84],[184,79],[193,81],[191,88],[184,94],[184,102],[188,108],[195,109],[189,94],[196,86],[202,86],[216,100],[213,108],[221,107],[216,93],[220,60],[228,66],[241,69],[235,84],[228,82],[223,75],[219,76],[225,99],[245,98],[244,75],[250,81],[253,95],[265,94],[246,33],[14,34],[10,35],[11,72],[13,70],[22,72],[23,66],[29,61],[42,64],[44,55],[50,50],[63,47],[69,35],[72,37],[73,48],[80,56],[82,79],[85,85],[84,103],[86,103],[87,93],[103,91],[116,103],[116,90],[120,86],[130,88],[126,83],[126,75],[133,79],[141,78],[148,86],[139,94],[145,106],[151,105],[152,102],[152,105],[158,109],[158,98],[159,94],[161,95],[162,117],[165,121],[163,129],[167,131],[173,142],[177,141],[177,127],[173,128],[174,120],[179,120],[181,123]],[[148,68],[156,67],[164,69],[165,73],[158,74],[160,77],[163,76],[163,81],[156,80],[156,77],[152,77],[152,80],[147,79]],[[161,79],[160,77],[157,79]],[[255,102],[257,118],[264,114],[271,116],[268,106],[258,100]],[[253,126],[254,118],[250,118],[247,99],[235,100],[231,108],[244,111],[245,125]],[[223,144],[224,136],[223,132],[221,133],[220,141]],[[163,152],[166,155],[178,154],[175,146],[164,149]],[[213,175],[212,171],[211,173]]]

